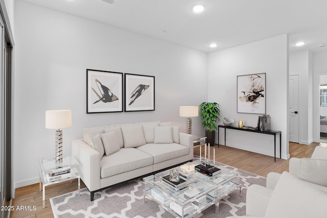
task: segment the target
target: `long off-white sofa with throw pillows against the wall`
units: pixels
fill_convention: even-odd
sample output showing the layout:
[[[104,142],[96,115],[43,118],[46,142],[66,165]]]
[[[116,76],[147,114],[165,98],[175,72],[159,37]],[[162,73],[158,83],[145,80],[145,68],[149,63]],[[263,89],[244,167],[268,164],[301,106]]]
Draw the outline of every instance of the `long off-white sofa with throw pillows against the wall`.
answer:
[[[192,135],[172,123],[148,122],[83,129],[73,140],[82,181],[91,193],[193,159]]]

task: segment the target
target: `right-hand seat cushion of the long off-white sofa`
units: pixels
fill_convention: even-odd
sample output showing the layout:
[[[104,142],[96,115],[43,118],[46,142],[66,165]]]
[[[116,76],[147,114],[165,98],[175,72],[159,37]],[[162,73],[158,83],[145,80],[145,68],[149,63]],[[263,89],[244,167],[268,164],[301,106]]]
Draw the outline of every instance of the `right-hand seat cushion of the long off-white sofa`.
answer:
[[[189,147],[181,144],[145,144],[136,148],[153,156],[153,163],[160,163],[162,161],[171,160],[176,157],[188,155],[190,153]]]

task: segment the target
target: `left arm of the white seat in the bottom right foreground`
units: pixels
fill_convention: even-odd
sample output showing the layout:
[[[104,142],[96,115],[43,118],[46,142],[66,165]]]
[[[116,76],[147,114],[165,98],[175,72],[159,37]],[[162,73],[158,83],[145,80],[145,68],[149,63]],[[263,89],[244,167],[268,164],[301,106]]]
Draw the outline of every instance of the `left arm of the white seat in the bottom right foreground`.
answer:
[[[251,185],[246,191],[246,215],[265,216],[272,191],[260,185]]]

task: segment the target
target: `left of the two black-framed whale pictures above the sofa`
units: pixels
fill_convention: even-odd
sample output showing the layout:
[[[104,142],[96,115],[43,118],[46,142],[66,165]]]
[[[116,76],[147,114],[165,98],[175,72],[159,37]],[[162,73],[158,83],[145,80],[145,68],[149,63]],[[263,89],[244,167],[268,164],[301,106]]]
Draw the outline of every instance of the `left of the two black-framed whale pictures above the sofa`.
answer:
[[[123,74],[86,69],[86,113],[123,112]]]

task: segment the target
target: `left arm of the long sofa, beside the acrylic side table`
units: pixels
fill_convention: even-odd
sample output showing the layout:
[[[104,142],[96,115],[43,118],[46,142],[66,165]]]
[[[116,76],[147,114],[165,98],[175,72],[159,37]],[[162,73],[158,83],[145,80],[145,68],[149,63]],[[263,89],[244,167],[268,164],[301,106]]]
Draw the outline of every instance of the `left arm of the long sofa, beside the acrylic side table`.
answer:
[[[78,171],[89,191],[100,189],[100,153],[76,139],[72,142],[72,155],[80,164]]]

